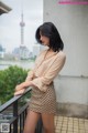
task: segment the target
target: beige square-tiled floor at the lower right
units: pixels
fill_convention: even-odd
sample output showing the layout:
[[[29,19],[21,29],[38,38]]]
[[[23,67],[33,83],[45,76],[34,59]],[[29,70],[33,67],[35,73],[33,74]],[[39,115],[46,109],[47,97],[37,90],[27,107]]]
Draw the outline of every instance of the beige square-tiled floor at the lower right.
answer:
[[[55,133],[88,133],[88,120],[56,115]]]

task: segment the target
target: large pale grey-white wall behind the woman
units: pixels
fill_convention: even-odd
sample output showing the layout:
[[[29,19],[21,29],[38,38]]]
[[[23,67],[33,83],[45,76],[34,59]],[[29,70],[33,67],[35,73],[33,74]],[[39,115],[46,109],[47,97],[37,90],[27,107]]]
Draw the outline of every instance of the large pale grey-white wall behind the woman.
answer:
[[[44,21],[57,27],[65,44],[66,64],[55,80],[58,102],[88,104],[88,6],[44,0]]]

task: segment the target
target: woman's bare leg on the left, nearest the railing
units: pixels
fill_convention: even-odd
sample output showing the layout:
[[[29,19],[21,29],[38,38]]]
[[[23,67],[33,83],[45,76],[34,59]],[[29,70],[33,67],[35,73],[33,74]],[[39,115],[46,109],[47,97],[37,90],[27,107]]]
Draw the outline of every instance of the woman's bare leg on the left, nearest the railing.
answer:
[[[26,115],[23,133],[34,133],[38,119],[40,119],[40,113],[29,111]]]

